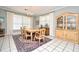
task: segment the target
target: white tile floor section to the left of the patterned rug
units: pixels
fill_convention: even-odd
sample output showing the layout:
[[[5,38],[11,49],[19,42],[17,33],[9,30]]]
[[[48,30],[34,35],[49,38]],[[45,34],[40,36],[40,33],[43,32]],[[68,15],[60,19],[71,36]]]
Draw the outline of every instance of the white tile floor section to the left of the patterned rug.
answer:
[[[5,36],[0,38],[0,51],[1,52],[16,52],[16,46],[12,36]]]

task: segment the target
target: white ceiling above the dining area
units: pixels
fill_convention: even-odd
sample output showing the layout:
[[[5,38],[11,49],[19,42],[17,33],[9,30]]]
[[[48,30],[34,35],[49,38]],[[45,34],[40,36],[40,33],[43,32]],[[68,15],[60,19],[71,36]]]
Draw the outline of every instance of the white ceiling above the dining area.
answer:
[[[28,15],[42,15],[61,9],[64,6],[1,6],[0,8]],[[25,11],[25,9],[28,9]]]

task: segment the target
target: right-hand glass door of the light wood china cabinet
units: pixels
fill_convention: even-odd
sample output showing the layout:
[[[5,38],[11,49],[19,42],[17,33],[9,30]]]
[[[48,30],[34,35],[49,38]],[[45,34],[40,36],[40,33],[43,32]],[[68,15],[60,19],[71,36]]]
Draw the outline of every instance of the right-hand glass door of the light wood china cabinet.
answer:
[[[67,17],[67,29],[76,30],[76,16]]]

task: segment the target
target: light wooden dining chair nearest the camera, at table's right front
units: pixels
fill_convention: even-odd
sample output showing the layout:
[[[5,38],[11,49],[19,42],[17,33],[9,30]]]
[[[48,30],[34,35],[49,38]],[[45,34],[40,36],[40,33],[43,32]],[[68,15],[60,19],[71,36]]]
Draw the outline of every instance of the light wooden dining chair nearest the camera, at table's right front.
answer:
[[[39,32],[36,32],[35,33],[34,40],[35,39],[38,39],[39,40],[39,45],[40,45],[41,40],[44,41],[44,39],[45,39],[45,29],[40,29]]]

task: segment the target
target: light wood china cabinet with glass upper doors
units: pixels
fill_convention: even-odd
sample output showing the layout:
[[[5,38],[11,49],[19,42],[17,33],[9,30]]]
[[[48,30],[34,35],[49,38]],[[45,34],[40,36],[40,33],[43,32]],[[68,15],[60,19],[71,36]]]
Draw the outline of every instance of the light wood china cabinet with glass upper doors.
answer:
[[[56,17],[56,37],[79,44],[79,14],[63,13]]]

